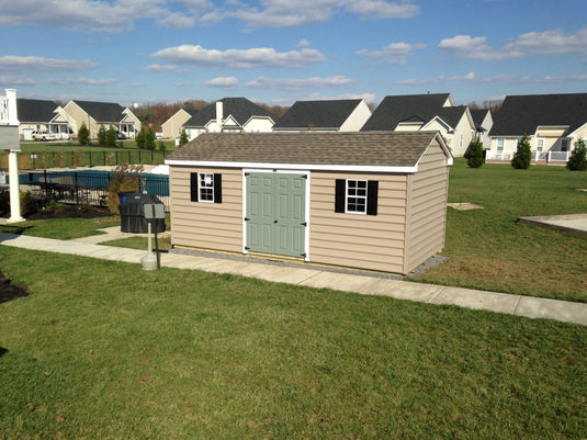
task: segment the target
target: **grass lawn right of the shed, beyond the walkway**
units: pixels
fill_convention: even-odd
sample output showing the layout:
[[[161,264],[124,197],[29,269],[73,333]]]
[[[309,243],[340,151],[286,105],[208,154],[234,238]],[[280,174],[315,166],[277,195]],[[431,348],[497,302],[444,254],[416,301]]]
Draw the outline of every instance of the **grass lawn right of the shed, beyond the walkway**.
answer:
[[[509,165],[451,168],[449,202],[483,210],[448,208],[449,261],[417,281],[531,296],[587,302],[585,236],[516,223],[521,216],[587,213],[587,173],[564,167]]]

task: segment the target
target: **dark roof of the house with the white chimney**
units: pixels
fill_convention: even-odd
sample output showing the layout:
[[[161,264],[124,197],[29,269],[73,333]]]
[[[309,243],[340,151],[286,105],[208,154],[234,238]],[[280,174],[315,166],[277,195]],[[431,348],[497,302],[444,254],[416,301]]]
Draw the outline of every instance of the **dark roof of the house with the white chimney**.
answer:
[[[270,117],[273,122],[278,120],[273,113],[268,112],[246,98],[224,98],[219,101],[223,103],[223,120],[233,116],[240,126],[245,125],[252,116]],[[215,102],[194,113],[183,126],[205,127],[207,123],[214,120],[216,120]]]

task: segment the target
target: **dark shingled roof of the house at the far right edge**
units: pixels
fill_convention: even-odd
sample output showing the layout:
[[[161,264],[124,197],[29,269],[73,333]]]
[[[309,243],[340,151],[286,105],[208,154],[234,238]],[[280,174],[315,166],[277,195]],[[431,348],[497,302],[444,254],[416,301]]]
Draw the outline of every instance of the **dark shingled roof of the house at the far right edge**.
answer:
[[[587,123],[587,93],[508,95],[489,136],[532,136],[539,126],[568,126],[567,134]]]

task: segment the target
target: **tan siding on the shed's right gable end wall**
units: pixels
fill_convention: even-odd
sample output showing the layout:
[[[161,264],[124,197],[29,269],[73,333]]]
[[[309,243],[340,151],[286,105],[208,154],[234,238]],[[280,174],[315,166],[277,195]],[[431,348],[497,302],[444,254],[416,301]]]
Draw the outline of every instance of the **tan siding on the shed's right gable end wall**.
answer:
[[[404,272],[416,268],[444,247],[448,165],[434,142],[418,163],[409,194],[408,249]]]

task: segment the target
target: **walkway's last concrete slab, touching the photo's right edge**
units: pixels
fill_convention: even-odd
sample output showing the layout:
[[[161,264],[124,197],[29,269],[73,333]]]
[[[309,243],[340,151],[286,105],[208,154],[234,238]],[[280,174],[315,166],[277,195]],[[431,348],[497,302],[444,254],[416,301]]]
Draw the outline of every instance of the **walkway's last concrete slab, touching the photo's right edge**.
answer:
[[[530,318],[549,318],[587,326],[587,304],[522,296],[516,315]]]

